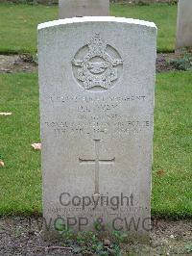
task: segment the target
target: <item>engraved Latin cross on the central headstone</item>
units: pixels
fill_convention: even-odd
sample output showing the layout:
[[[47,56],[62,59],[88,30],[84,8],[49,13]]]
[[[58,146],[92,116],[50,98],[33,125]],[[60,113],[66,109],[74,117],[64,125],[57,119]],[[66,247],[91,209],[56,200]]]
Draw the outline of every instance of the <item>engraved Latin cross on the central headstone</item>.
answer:
[[[80,164],[94,164],[95,165],[95,192],[94,195],[99,194],[99,172],[101,164],[113,164],[115,158],[112,159],[100,159],[100,140],[95,141],[95,158],[94,159],[81,159],[79,158]]]

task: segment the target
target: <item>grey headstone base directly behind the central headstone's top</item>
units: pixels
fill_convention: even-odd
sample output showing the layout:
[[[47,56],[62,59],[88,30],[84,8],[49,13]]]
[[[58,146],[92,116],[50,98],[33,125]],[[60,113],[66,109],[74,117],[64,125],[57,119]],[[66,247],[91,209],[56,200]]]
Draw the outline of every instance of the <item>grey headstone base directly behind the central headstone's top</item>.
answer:
[[[108,15],[109,0],[59,0],[59,18]]]

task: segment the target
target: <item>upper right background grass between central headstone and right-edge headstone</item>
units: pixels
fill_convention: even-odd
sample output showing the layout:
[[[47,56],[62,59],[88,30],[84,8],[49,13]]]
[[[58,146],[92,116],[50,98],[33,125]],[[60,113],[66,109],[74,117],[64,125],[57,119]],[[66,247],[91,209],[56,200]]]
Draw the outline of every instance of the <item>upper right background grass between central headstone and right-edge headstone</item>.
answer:
[[[170,52],[175,50],[177,5],[152,4],[128,6],[113,4],[110,13],[115,16],[138,18],[156,23],[158,29],[157,51]]]

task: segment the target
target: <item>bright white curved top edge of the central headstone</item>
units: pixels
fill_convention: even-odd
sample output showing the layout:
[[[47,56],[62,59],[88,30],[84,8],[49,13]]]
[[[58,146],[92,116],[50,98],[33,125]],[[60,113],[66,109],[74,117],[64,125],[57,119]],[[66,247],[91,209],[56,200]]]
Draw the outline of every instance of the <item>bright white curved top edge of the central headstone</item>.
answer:
[[[60,25],[66,25],[66,24],[82,23],[82,22],[116,22],[116,23],[140,25],[140,26],[156,29],[156,24],[154,22],[149,22],[149,21],[144,21],[139,19],[114,17],[114,16],[84,16],[84,17],[72,17],[72,18],[65,18],[65,19],[44,22],[44,23],[38,24],[37,30],[60,26]]]

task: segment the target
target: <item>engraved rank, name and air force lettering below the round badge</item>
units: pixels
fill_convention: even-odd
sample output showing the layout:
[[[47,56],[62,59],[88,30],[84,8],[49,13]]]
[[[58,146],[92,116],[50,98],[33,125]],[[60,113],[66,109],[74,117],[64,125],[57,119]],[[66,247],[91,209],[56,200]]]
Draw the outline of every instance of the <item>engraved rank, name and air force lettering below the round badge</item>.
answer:
[[[121,115],[120,109],[125,105],[131,107],[132,104],[144,106],[146,96],[123,96],[122,98],[85,98],[80,96],[59,96],[50,97],[50,104],[54,106],[60,105],[60,108],[66,108],[68,104],[72,103],[77,111],[76,120],[66,121],[65,119],[57,122],[52,119],[51,121],[45,121],[45,125],[54,132],[56,136],[62,136],[66,133],[80,133],[84,135],[92,134],[134,134],[138,133],[142,129],[147,129],[150,125],[153,126],[153,121],[150,119],[136,119],[128,118],[127,115]],[[79,105],[80,102],[84,104]],[[92,111],[99,115],[93,115]],[[90,125],[91,124],[91,125]]]

